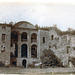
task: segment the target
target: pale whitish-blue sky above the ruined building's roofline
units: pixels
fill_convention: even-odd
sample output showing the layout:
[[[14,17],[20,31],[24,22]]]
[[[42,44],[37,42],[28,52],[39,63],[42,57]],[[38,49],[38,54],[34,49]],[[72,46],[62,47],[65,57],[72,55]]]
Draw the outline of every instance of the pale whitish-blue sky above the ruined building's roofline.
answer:
[[[11,21],[75,29],[75,0],[0,0],[0,23]]]

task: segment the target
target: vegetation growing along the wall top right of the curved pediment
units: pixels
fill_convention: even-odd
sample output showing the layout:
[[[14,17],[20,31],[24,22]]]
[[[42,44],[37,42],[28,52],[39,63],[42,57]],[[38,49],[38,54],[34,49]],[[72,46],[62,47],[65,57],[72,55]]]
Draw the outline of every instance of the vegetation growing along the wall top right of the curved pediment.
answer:
[[[47,27],[47,26],[40,27],[36,24],[35,27],[37,29],[43,29],[43,30],[52,30],[52,29],[54,29],[60,35],[66,35],[66,34],[75,35],[75,30],[74,29],[68,28],[68,30],[66,30],[66,31],[61,31],[60,29],[58,29],[56,24],[54,24],[52,27]]]

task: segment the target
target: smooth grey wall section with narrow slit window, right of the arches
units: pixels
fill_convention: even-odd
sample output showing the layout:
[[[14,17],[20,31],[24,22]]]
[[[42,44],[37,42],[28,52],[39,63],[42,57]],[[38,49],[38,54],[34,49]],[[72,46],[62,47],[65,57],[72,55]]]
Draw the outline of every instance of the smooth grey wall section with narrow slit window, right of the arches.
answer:
[[[49,31],[39,30],[39,34],[39,49],[41,56],[43,50],[49,49]]]

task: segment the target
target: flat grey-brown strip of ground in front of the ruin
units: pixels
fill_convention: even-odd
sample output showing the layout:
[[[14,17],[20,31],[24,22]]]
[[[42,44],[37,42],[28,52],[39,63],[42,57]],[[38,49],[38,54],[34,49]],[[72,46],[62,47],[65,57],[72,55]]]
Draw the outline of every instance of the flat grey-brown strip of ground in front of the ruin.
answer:
[[[11,67],[11,68],[0,68],[0,74],[53,74],[53,73],[75,73],[75,68],[17,68],[17,67]],[[75,74],[74,74],[75,75]]]

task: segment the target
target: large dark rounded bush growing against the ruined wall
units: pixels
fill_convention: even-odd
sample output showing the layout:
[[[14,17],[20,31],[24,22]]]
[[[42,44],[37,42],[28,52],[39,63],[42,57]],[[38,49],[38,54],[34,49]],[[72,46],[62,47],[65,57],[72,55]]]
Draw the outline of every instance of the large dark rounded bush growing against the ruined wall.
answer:
[[[62,67],[61,60],[51,50],[44,50],[41,56],[42,67]]]

